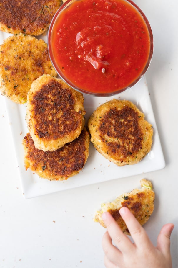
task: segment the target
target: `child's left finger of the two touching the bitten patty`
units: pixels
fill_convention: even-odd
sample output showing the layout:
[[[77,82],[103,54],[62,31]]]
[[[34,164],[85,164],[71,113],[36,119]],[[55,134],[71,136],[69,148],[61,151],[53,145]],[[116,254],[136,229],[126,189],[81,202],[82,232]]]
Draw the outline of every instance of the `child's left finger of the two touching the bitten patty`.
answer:
[[[129,249],[133,247],[133,244],[130,239],[122,232],[121,228],[116,223],[112,215],[109,212],[104,212],[102,214],[102,218],[107,227],[108,234],[117,248],[122,251],[122,253],[128,252]]]

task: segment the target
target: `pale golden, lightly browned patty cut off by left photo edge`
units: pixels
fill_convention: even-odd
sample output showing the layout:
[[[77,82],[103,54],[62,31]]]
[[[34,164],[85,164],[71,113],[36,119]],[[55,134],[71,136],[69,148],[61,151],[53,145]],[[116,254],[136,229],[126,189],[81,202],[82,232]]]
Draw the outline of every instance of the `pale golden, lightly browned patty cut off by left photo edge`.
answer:
[[[30,35],[8,37],[0,45],[0,91],[12,101],[23,104],[31,83],[43,74],[57,76],[47,44]]]

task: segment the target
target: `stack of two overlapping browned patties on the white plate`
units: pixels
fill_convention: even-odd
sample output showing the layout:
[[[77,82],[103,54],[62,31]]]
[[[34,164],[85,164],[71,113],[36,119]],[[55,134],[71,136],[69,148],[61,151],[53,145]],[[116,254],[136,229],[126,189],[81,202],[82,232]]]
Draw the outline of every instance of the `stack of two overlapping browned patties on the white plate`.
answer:
[[[84,97],[61,79],[43,75],[27,95],[23,140],[25,168],[49,180],[79,173],[89,156],[89,132],[84,128]]]

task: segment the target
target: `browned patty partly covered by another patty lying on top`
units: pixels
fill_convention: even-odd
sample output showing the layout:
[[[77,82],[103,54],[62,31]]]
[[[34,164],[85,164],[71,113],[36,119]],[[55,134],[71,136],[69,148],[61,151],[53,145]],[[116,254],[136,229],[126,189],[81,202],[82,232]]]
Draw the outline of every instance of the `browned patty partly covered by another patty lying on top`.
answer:
[[[66,180],[81,171],[89,156],[89,132],[82,130],[80,136],[64,147],[50,152],[38,150],[29,133],[23,140],[24,164],[41,178]]]

